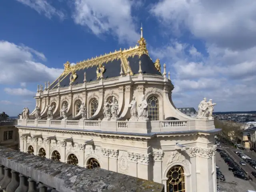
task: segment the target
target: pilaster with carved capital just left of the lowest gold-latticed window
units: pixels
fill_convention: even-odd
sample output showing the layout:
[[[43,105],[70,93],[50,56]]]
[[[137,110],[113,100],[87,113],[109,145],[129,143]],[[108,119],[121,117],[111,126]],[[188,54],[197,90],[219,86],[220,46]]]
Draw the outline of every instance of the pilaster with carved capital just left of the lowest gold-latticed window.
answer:
[[[154,158],[153,167],[153,180],[157,183],[162,183],[162,157],[164,155],[163,151],[154,151],[152,156]]]

